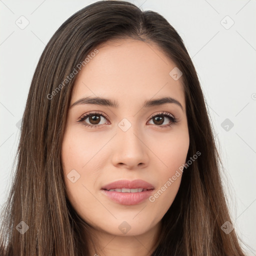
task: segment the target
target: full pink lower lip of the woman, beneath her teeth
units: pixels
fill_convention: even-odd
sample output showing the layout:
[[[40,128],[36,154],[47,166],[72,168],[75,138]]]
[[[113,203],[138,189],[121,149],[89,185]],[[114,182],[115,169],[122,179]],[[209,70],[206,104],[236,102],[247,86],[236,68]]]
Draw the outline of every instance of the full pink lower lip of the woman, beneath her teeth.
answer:
[[[153,189],[145,190],[141,192],[134,192],[134,193],[123,193],[123,192],[116,192],[116,191],[108,191],[105,189],[101,189],[101,191],[111,200],[124,204],[124,205],[134,205],[144,201],[148,198]]]

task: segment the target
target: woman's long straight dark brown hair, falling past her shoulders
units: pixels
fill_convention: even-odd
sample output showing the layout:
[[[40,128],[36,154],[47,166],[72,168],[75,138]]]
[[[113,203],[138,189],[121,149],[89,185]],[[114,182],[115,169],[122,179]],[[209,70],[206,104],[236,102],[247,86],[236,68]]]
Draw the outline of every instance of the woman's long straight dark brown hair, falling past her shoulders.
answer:
[[[66,197],[61,167],[61,142],[75,76],[65,79],[97,45],[115,38],[154,42],[182,71],[190,139],[187,160],[196,151],[201,153],[183,172],[152,255],[244,256],[235,231],[221,230],[231,220],[219,156],[197,74],[182,39],[158,13],[112,0],[74,13],[41,54],[22,118],[15,176],[2,212],[0,255],[89,254],[89,225]],[[17,231],[18,225],[26,227],[20,221],[28,226],[23,234]]]

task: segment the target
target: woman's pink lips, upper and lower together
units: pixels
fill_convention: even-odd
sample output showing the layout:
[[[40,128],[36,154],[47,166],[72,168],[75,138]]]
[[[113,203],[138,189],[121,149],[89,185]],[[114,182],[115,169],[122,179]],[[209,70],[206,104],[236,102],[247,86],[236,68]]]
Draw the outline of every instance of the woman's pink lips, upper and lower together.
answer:
[[[115,189],[115,188],[145,188],[148,190],[141,191],[141,192],[117,192],[117,191],[108,191],[109,189]],[[150,196],[152,193],[154,187],[152,184],[141,180],[141,179],[135,179],[132,181],[129,180],[118,180],[112,183],[109,183],[102,187],[101,191],[104,193],[108,198],[111,200],[124,204],[124,205],[134,205],[142,202],[146,198]]]

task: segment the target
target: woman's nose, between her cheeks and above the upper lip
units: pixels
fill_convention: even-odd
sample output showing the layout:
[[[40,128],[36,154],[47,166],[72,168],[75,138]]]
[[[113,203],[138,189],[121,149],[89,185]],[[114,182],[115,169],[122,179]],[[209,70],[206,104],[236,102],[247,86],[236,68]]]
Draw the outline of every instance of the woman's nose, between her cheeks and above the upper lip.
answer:
[[[145,137],[133,125],[127,131],[118,128],[112,145],[112,164],[127,169],[146,167],[150,150],[146,147],[144,140]]]

